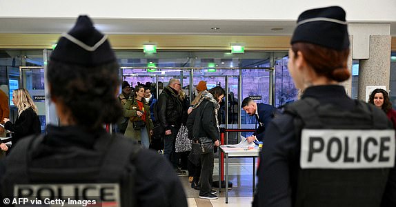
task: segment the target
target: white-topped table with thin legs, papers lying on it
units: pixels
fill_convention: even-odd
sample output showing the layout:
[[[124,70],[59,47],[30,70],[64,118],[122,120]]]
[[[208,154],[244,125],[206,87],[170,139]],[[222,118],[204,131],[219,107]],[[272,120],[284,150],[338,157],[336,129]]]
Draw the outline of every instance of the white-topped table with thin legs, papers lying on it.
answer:
[[[259,148],[255,147],[251,150],[247,148],[234,148],[228,147],[227,145],[221,145],[219,147],[220,152],[224,152],[226,161],[226,204],[228,204],[228,158],[229,157],[253,157],[253,193],[255,192],[256,185],[256,157],[259,156]],[[219,153],[219,177],[221,177],[221,166],[223,166],[224,160],[221,159]],[[221,179],[219,179],[219,192],[221,192]]]

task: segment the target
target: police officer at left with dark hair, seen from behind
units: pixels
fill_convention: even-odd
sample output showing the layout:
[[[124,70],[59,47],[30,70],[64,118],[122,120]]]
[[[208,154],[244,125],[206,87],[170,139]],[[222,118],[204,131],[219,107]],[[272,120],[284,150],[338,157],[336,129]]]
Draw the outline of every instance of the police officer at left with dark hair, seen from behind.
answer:
[[[107,36],[80,16],[48,63],[47,87],[60,126],[21,140],[0,164],[1,197],[187,206],[179,178],[163,157],[103,129],[122,116],[118,70]]]

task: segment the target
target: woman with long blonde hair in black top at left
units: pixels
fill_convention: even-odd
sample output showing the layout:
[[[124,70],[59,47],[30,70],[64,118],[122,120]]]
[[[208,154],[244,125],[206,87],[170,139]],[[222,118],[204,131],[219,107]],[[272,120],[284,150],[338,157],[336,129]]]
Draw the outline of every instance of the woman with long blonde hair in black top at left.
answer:
[[[26,136],[41,133],[41,123],[37,111],[37,106],[34,105],[28,90],[19,88],[12,93],[12,103],[18,108],[18,117],[15,124],[12,124],[10,119],[5,118],[4,128],[11,132],[12,146]]]

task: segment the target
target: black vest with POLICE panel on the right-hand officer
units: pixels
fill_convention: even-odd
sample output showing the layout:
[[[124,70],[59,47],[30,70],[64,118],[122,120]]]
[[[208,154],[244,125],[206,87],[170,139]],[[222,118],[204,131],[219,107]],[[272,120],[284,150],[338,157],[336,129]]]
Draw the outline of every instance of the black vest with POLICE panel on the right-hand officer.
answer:
[[[293,206],[379,206],[381,204],[382,194],[388,180],[389,167],[374,168],[369,166],[364,169],[345,167],[346,162],[349,161],[348,164],[350,164],[351,157],[355,155],[352,144],[349,146],[349,154],[346,150],[348,148],[348,137],[346,135],[349,135],[347,132],[353,130],[358,130],[361,134],[364,134],[369,132],[369,130],[376,129],[376,131],[387,131],[390,139],[392,137],[394,139],[395,132],[394,130],[388,130],[390,129],[388,119],[381,110],[362,101],[356,101],[355,103],[357,104],[355,110],[337,110],[332,104],[322,105],[316,99],[308,97],[286,106],[284,112],[295,117],[293,121],[295,124],[297,148],[301,149],[299,150],[300,154],[297,155],[298,158],[295,159],[295,162],[299,161],[299,165],[297,164],[299,166],[297,180],[291,181],[297,185],[295,190],[293,190],[295,191],[292,196]],[[321,154],[327,155],[327,157],[337,157],[340,155],[344,159],[341,158],[338,161],[341,162],[340,165],[344,164],[344,166],[340,166],[339,168],[329,168],[328,166],[331,166],[330,164],[324,164],[324,166],[316,168],[303,166],[306,164],[304,159],[305,152],[303,153],[303,151],[304,147],[308,146],[307,142],[304,143],[304,140],[306,140],[304,132],[308,131],[312,133],[314,130],[324,132],[322,138],[325,136],[334,136],[334,134],[331,134],[333,132],[329,132],[331,130],[344,130],[344,137],[339,136],[339,140],[346,140],[342,143],[342,149],[344,151],[341,152],[339,150],[341,155],[328,150],[330,148],[329,146],[341,146],[339,144],[341,141],[335,140],[337,137],[334,137],[335,141],[333,141],[333,145],[330,145],[330,141],[333,139],[332,137],[329,142],[326,142],[326,139],[322,139],[316,143],[316,146],[310,143],[310,148],[308,148],[308,152],[311,152],[310,150],[313,148],[316,151],[321,150]],[[392,133],[393,135],[391,135]],[[321,136],[310,136],[308,138],[320,139]],[[359,138],[361,137],[350,140],[356,141]],[[318,147],[318,143],[323,142],[327,146],[319,144]],[[390,148],[392,148],[391,144]],[[326,149],[327,153],[324,152]],[[359,152],[359,149],[357,153],[361,154],[358,155],[364,157],[364,150]],[[389,156],[394,157],[394,155]],[[354,158],[355,161],[352,161],[352,164],[358,164],[356,157]],[[308,157],[308,160],[310,158],[312,159],[312,156]],[[323,161],[317,161],[317,163],[322,164]],[[334,164],[336,164],[335,161]]]

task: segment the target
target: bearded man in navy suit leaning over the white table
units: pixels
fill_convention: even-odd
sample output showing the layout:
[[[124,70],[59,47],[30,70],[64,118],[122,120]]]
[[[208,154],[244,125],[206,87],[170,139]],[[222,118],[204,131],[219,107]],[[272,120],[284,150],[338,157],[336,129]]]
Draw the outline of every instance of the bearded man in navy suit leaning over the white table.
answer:
[[[276,112],[277,108],[266,103],[256,103],[249,97],[246,97],[244,101],[242,101],[241,107],[248,115],[255,116],[259,125],[253,135],[246,137],[246,140],[249,143],[255,141],[256,139],[258,141],[263,141],[264,130],[270,123],[271,119],[273,119],[274,112]]]

